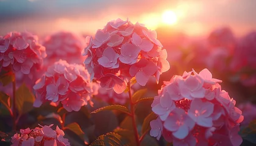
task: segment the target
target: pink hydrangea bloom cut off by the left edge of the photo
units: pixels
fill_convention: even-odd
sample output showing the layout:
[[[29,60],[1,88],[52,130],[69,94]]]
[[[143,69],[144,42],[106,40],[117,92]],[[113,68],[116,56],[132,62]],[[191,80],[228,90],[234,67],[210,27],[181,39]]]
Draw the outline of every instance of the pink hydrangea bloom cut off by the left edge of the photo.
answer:
[[[38,43],[35,35],[10,32],[0,36],[0,70],[11,69],[32,76],[30,69],[39,69],[45,57],[45,47]]]

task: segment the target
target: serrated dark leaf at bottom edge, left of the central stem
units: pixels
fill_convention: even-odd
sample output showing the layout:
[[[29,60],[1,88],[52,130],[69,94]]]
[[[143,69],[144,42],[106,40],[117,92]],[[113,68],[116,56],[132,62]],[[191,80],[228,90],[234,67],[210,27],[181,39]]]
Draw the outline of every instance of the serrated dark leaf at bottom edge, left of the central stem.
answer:
[[[99,136],[96,141],[91,143],[91,146],[94,145],[106,145],[106,146],[128,146],[127,141],[123,139],[122,136],[120,136],[117,133],[107,133]]]

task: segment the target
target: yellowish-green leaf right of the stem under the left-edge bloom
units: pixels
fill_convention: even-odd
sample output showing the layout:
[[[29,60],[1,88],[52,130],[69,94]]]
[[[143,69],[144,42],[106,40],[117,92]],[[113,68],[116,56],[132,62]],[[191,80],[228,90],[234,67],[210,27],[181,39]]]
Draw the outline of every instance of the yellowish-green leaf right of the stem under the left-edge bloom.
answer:
[[[20,114],[27,113],[33,108],[33,103],[35,101],[34,94],[30,92],[29,88],[27,88],[24,83],[17,89],[15,99],[16,108]]]

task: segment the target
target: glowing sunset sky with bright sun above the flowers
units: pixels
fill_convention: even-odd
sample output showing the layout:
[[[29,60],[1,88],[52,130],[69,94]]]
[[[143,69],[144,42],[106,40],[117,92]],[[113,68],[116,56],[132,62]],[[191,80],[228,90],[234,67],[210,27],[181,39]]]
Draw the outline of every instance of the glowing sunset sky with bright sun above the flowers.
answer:
[[[255,0],[0,0],[0,35],[16,30],[93,34],[117,18],[189,36],[222,26],[236,35],[256,30]]]

